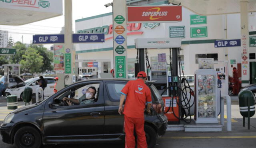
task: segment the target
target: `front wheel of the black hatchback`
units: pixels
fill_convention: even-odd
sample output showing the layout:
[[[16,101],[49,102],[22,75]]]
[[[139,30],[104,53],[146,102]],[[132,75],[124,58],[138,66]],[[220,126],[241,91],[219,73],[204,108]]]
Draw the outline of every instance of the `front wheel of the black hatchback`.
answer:
[[[15,133],[14,144],[16,148],[40,148],[42,138],[38,130],[31,126],[24,126]]]

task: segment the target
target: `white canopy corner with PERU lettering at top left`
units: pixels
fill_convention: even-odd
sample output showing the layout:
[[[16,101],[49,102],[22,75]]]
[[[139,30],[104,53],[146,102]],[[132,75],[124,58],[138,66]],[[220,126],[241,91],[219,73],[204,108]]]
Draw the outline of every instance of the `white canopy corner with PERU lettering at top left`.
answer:
[[[62,15],[62,0],[0,0],[0,25],[24,25]]]

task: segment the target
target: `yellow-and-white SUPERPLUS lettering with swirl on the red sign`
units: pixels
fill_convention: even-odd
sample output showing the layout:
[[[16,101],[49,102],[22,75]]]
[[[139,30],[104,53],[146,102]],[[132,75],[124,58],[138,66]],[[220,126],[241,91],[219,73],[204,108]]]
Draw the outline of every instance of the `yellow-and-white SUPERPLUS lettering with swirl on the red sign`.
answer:
[[[167,11],[161,11],[160,7],[154,7],[148,10],[156,10],[156,11],[144,11],[142,12],[142,16],[144,17],[149,17],[150,20],[157,20],[162,18],[163,16],[167,16],[168,12]],[[160,17],[159,17],[160,16]]]

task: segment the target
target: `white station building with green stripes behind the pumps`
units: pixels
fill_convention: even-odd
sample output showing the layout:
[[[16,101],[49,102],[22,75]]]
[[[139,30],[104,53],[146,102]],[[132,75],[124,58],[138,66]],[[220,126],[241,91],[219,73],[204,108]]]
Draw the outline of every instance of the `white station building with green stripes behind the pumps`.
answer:
[[[164,3],[164,2],[163,2]],[[186,8],[182,8],[182,22],[176,23],[136,23],[127,26],[127,45],[128,45],[128,73],[134,73],[134,63],[136,62],[136,49],[134,48],[134,39],[136,38],[160,38],[170,37],[170,30],[174,27],[184,28],[184,32],[179,30],[178,35],[184,34],[182,38],[181,55],[184,60],[184,73],[194,74],[198,69],[198,58],[211,57],[215,61],[225,61],[228,63],[228,73],[232,76],[232,67],[238,67],[241,77],[241,47],[214,47],[214,41],[218,39],[240,39],[240,14],[213,15],[199,17],[195,21],[194,13]],[[256,13],[249,15],[249,36],[256,37]],[[201,20],[200,20],[201,19]],[[200,29],[201,34],[196,36],[194,32]],[[206,30],[206,32],[204,32]],[[84,62],[79,63],[79,67],[84,67],[87,61],[101,61],[98,64],[99,72],[110,71],[114,67],[113,63],[113,39],[112,32],[112,12],[89,18],[76,20],[76,33],[105,33],[105,43],[94,44],[76,44],[76,53],[78,59]],[[200,32],[199,31],[199,32]],[[177,33],[177,32],[176,32]],[[175,34],[172,34],[172,36]],[[176,34],[177,35],[177,34]],[[256,38],[252,39],[256,41]],[[254,47],[250,47],[250,63],[256,68],[256,42]],[[169,50],[152,49],[148,50],[150,62],[157,61],[158,53],[166,53],[167,62],[169,62]],[[249,58],[249,57],[248,57]],[[230,63],[232,60],[232,64]],[[234,62],[235,60],[235,62]],[[105,66],[104,66],[105,65]],[[215,64],[215,68],[218,67]],[[252,68],[251,68],[252,69]],[[252,71],[252,70],[250,70]],[[256,76],[254,71],[252,75]]]

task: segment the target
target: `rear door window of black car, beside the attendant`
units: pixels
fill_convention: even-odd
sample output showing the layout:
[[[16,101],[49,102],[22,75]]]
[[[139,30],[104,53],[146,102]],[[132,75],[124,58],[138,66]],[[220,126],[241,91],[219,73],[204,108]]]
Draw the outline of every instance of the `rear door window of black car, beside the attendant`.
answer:
[[[121,96],[121,90],[126,83],[107,83],[108,96],[113,101],[119,101]]]

